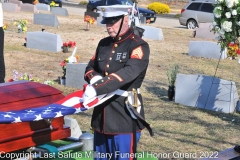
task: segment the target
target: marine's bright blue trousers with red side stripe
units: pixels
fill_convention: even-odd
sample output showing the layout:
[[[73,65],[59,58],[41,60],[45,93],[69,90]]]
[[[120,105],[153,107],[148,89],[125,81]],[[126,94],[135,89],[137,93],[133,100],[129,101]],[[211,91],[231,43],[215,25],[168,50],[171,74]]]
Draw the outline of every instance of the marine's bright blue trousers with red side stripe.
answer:
[[[139,141],[141,132],[137,132]],[[133,134],[107,135],[94,132],[94,160],[133,159]]]

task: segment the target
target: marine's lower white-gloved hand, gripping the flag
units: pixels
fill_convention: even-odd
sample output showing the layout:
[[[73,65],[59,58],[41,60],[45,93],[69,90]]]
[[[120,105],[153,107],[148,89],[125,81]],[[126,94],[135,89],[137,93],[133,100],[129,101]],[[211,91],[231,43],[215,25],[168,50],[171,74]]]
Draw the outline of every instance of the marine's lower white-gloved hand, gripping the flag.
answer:
[[[87,85],[86,90],[82,96],[83,105],[91,102],[96,97],[96,95],[97,92],[95,88],[91,84]]]

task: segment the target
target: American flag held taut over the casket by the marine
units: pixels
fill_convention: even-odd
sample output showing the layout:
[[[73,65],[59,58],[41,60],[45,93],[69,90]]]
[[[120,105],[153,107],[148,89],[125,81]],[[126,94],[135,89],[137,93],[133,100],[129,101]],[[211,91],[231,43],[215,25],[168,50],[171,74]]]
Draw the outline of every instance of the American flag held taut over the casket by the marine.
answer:
[[[84,90],[79,90],[67,95],[56,103],[38,108],[0,112],[0,123],[39,121],[80,113],[94,108],[114,95],[112,92],[110,94],[97,96],[93,101],[83,106],[83,103],[80,102],[83,93]]]

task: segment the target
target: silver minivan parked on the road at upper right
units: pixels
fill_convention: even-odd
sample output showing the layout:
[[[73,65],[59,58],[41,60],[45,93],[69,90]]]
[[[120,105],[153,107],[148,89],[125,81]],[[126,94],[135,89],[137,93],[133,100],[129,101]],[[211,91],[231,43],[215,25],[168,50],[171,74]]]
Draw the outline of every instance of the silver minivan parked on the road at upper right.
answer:
[[[179,22],[188,29],[198,27],[199,23],[213,22],[214,1],[192,0],[181,10]]]

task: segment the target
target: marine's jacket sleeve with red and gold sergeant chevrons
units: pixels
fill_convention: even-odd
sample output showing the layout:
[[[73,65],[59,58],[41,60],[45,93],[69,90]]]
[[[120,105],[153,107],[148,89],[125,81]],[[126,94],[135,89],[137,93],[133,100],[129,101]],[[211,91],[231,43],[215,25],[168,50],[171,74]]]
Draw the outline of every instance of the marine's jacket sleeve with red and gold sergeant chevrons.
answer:
[[[135,80],[143,71],[146,71],[149,54],[149,45],[145,41],[131,47],[130,59],[123,68],[93,84],[97,95],[113,92]]]

